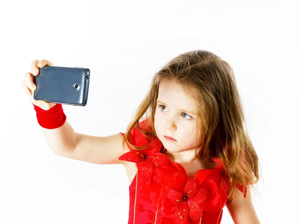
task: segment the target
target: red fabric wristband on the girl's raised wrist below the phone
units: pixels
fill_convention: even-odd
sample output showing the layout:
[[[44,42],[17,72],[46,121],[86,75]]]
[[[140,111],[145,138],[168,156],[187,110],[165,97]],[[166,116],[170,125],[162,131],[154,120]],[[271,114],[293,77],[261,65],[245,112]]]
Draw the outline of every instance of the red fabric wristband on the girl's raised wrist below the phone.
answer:
[[[40,126],[47,129],[54,129],[61,127],[66,121],[66,115],[63,112],[62,105],[56,104],[54,107],[45,111],[35,105],[37,122]]]

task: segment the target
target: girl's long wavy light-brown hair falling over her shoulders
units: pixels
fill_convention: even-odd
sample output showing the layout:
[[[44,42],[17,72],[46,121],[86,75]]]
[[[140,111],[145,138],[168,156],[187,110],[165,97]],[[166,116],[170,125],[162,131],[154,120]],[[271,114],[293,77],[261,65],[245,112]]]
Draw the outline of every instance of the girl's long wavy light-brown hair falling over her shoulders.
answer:
[[[146,148],[130,143],[129,133],[134,126],[148,138],[157,137],[153,125],[156,99],[159,83],[165,79],[181,84],[194,100],[200,117],[197,142],[201,142],[195,157],[204,161],[223,160],[232,183],[228,201],[235,198],[237,183],[251,187],[257,183],[259,159],[247,132],[234,72],[229,63],[207,50],[179,54],[155,73],[146,97],[128,125],[123,144],[126,140],[131,148]],[[145,119],[151,128],[140,128],[140,122]],[[160,152],[164,150],[162,147]]]

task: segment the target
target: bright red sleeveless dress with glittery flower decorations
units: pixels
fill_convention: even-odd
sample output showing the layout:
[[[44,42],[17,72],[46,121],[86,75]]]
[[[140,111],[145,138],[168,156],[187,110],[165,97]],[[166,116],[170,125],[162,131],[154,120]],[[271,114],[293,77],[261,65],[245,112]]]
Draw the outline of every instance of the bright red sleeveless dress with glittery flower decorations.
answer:
[[[144,150],[130,148],[119,158],[138,167],[129,187],[128,224],[220,224],[230,188],[220,159],[213,159],[217,167],[198,170],[191,178],[179,163],[159,152],[158,138],[149,141],[134,127],[129,139],[136,146],[150,143]],[[238,189],[243,192],[242,186]]]

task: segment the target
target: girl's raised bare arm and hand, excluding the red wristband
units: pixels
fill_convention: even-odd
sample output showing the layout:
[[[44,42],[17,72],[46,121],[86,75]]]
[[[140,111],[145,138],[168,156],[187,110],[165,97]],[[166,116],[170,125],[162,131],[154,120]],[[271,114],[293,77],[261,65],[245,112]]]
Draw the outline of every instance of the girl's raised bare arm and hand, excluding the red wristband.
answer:
[[[32,73],[25,73],[21,86],[24,93],[30,97],[30,101],[33,105],[42,109],[43,112],[51,108],[55,111],[54,107],[56,104],[41,100],[35,101],[33,98],[34,91],[36,90],[34,83],[35,76],[38,75],[39,68],[45,65],[52,65],[52,63],[47,60],[34,60],[31,63]],[[52,113],[52,111],[50,113]],[[129,151],[127,144],[125,144],[125,148],[123,148],[122,134],[114,134],[105,137],[85,135],[75,132],[70,123],[65,119],[64,121],[63,125],[57,128],[49,129],[41,127],[47,144],[55,154],[89,163],[125,164],[125,161],[118,159],[124,152]]]

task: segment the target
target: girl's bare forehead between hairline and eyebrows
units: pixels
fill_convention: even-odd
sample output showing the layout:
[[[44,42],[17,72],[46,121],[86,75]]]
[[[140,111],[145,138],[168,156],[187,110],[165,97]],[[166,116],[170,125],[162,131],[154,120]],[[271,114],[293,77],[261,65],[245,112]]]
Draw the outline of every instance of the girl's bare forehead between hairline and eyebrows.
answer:
[[[174,80],[163,80],[159,84],[158,99],[167,105],[196,112],[194,100]]]

